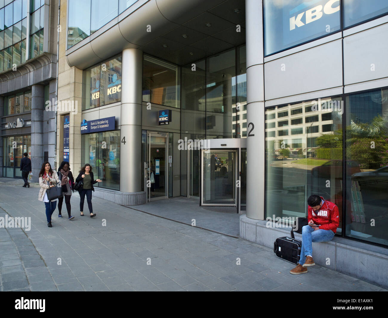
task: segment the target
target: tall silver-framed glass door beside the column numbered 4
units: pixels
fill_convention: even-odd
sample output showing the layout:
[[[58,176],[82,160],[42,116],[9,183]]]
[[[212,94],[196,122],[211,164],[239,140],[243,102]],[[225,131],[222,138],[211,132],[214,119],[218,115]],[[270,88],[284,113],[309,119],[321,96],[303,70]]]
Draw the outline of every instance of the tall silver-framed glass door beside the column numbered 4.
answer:
[[[167,198],[168,193],[168,133],[150,132],[149,140],[149,201]]]

